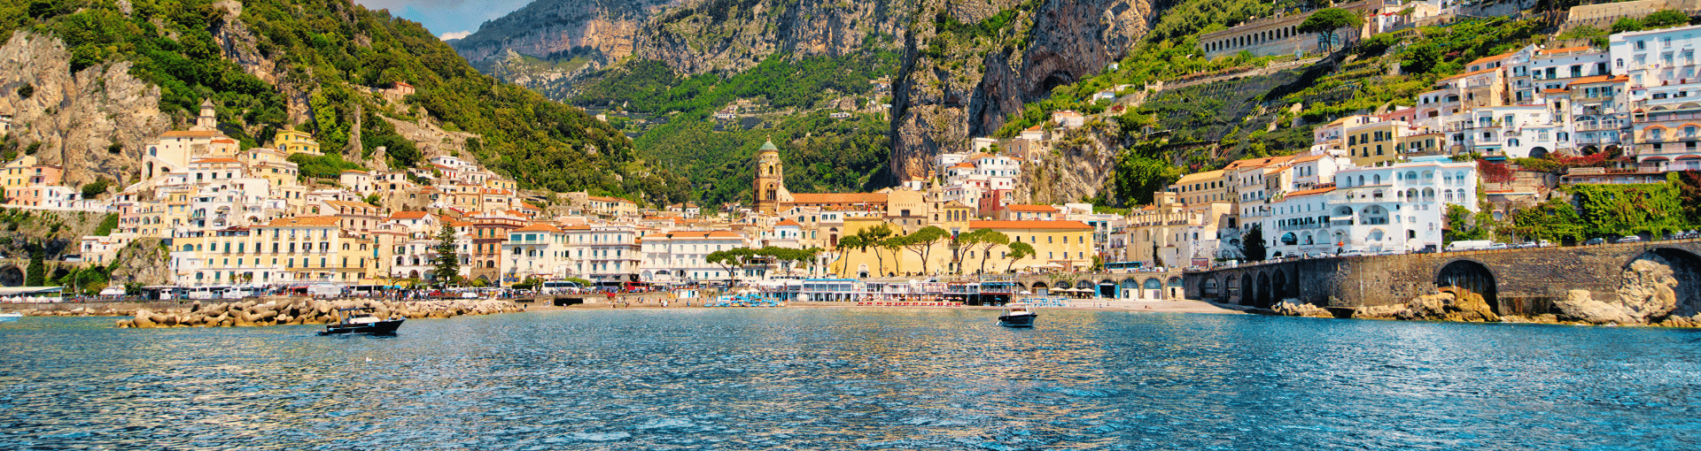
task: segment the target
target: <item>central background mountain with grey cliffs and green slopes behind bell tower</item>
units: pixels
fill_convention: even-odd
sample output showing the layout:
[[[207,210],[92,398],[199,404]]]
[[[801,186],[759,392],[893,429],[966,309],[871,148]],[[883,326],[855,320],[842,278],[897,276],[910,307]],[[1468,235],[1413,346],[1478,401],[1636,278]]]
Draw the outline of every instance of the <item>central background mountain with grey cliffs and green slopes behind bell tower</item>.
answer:
[[[532,3],[539,10],[565,5],[587,2]],[[869,144],[845,151],[852,153],[850,161],[878,159],[873,166],[832,166],[842,161],[823,159],[816,151],[781,153],[788,168],[828,164],[852,173],[818,183],[818,190],[868,190],[922,178],[932,154],[966,149],[970,137],[992,134],[1024,103],[1124,56],[1150,29],[1157,5],[1152,0],[684,0],[650,8],[655,12],[629,36],[628,59],[590,71],[573,63],[565,68],[578,71],[573,75],[548,68],[573,59],[538,58],[536,42],[548,34],[527,31],[553,19],[517,12],[492,20],[473,37],[524,44],[510,46],[515,54],[505,61],[531,56],[536,59],[527,63],[538,70],[497,64],[486,71],[553,98],[621,115],[624,131],[638,136],[641,156],[668,161],[668,168],[691,176],[703,202],[718,203],[747,197],[738,187],[750,180],[748,164],[737,159],[760,144],[755,137],[776,132],[781,148]],[[526,20],[539,24],[515,25]],[[497,37],[502,31],[510,37]],[[583,32],[548,49],[607,37]],[[498,54],[488,44],[456,42],[456,47],[468,56]],[[585,53],[573,58],[594,59]],[[754,102],[757,114],[711,119],[714,112],[733,110],[735,102]],[[886,103],[891,110],[881,109]],[[816,112],[847,112],[874,122],[820,132],[788,125],[808,122]],[[868,137],[871,132],[879,137]]]

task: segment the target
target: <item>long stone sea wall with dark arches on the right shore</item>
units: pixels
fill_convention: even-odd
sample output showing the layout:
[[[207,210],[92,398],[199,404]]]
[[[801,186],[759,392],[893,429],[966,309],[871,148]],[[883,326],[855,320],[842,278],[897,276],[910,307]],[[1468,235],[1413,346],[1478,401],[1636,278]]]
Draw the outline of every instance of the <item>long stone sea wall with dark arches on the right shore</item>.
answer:
[[[1351,256],[1240,264],[1184,276],[1186,297],[1271,307],[1298,300],[1318,307],[1405,303],[1437,287],[1482,293],[1495,314],[1548,314],[1570,290],[1618,302],[1621,276],[1636,261],[1672,270],[1679,305],[1701,309],[1701,239],[1626,244]]]

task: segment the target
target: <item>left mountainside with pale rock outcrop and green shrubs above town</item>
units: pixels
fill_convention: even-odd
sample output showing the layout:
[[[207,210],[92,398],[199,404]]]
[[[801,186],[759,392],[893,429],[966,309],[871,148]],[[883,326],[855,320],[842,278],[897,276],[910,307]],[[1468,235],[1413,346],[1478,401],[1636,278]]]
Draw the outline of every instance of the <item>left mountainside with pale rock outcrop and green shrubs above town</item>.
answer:
[[[71,181],[136,180],[143,144],[213,100],[242,146],[310,131],[328,151],[316,164],[330,168],[458,154],[522,188],[657,203],[687,193],[619,131],[478,73],[417,22],[349,0],[12,2],[0,5],[0,109],[14,115],[0,151],[66,164]]]

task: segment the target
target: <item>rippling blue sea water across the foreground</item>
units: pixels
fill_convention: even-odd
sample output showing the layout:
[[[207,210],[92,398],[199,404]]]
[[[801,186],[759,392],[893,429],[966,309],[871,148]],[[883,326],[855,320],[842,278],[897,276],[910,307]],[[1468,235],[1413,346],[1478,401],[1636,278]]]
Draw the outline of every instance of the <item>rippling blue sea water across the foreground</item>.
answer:
[[[1701,449],[1701,331],[1046,310],[0,324],[3,449]]]

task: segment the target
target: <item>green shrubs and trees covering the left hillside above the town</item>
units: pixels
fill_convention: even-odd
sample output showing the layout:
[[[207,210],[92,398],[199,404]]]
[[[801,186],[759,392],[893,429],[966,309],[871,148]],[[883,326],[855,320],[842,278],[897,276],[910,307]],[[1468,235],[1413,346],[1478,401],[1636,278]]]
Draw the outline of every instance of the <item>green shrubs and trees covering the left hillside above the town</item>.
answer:
[[[240,22],[255,36],[259,54],[282,63],[287,90],[310,95],[311,120],[286,124],[284,92],[221,56],[216,36],[240,34],[211,0],[131,0],[126,14],[109,0],[34,0],[0,5],[0,36],[34,29],[65,39],[71,70],[102,61],[133,61],[131,73],[160,85],[162,110],[187,117],[202,98],[218,105],[225,132],[255,146],[286,125],[311,131],[327,151],[345,149],[361,124],[366,154],[390,148],[393,166],[422,158],[376,115],[413,120],[429,114],[451,131],[480,134],[469,144],[478,159],[514,176],[522,188],[599,190],[650,202],[684,183],[668,171],[636,161],[631,141],[582,110],[544,100],[480,75],[454,49],[417,22],[367,10],[349,0],[245,2]],[[407,81],[417,88],[390,105],[364,86]],[[643,190],[650,180],[662,183]]]

